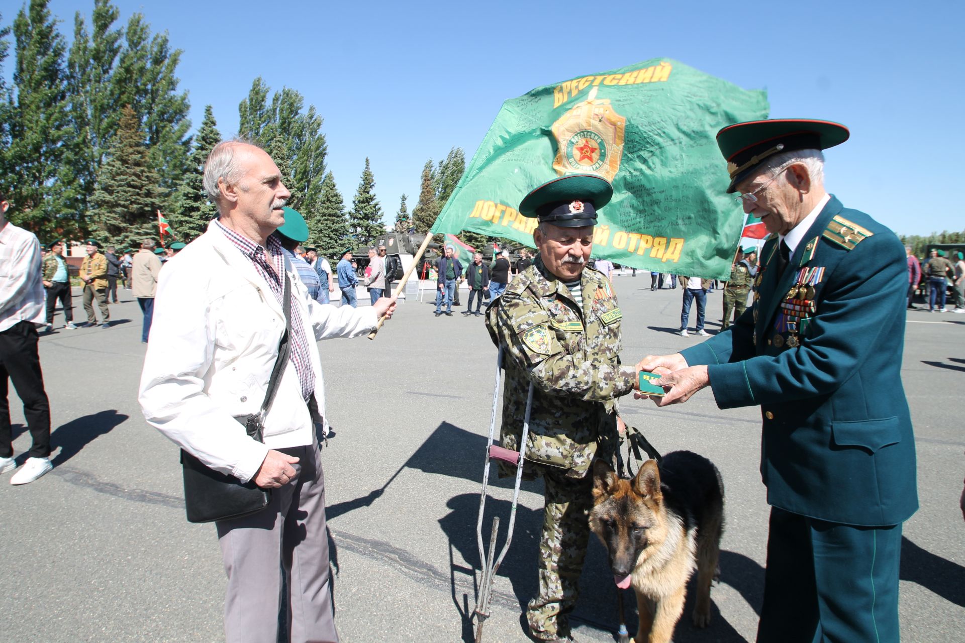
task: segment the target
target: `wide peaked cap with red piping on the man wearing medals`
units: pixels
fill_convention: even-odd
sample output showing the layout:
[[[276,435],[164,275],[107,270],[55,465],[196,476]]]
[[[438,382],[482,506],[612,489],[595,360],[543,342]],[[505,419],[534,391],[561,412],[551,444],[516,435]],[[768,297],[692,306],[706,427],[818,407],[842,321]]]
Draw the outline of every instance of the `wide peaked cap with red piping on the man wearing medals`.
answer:
[[[769,156],[796,149],[827,149],[839,146],[850,136],[838,122],[812,119],[771,119],[728,125],[717,132],[717,146],[727,159],[731,184],[728,193],[750,176]]]

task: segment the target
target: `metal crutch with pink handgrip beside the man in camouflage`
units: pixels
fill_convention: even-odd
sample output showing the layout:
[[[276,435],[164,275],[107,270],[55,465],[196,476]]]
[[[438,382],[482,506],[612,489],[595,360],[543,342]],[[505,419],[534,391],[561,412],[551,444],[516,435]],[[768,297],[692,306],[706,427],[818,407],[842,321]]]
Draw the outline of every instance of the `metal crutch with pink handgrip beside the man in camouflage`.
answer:
[[[510,549],[512,542],[512,527],[516,522],[516,500],[519,497],[519,485],[523,479],[523,453],[526,450],[526,439],[530,432],[530,412],[533,409],[533,383],[530,383],[530,390],[526,395],[526,415],[523,418],[523,435],[519,440],[519,451],[512,451],[493,444],[493,436],[496,428],[496,411],[499,409],[499,381],[503,368],[503,346],[499,347],[499,354],[496,356],[496,386],[492,393],[492,415],[489,419],[489,441],[486,444],[485,465],[483,467],[483,491],[480,494],[480,515],[476,522],[476,540],[480,549],[480,563],[485,561],[483,576],[480,579],[480,598],[473,611],[477,616],[476,620],[476,643],[483,641],[483,625],[489,618],[489,599],[492,596],[492,585],[496,579],[496,571],[499,570],[506,552]],[[512,506],[510,507],[510,528],[506,536],[506,543],[499,552],[499,557],[493,562],[493,554],[496,551],[496,535],[499,530],[499,517],[492,519],[492,535],[489,538],[489,552],[486,555],[483,549],[483,509],[485,508],[486,487],[489,483],[489,463],[492,459],[502,460],[516,468],[516,484],[512,489]]]

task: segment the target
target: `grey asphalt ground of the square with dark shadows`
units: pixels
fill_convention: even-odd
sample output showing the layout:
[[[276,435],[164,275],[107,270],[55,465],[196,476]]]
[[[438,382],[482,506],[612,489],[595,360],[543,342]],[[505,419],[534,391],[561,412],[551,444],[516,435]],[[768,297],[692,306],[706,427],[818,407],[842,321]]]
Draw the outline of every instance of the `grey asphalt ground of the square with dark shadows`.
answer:
[[[676,335],[680,290],[650,291],[644,273],[614,282],[623,362],[700,341]],[[129,291],[122,300],[111,306],[108,330],[64,330],[58,312],[57,330],[41,336],[55,469],[23,487],[7,484],[10,474],[0,478],[0,641],[224,640],[226,581],[214,527],[185,521],[178,449],[141,415],[141,311]],[[83,319],[79,297],[74,302],[75,320]],[[707,308],[707,330],[715,333],[720,291],[708,295]],[[336,623],[345,643],[473,640],[476,522],[496,351],[481,317],[435,317],[433,310],[410,299],[374,341],[318,344],[336,432],[322,458]],[[908,321],[902,373],[915,423],[921,509],[903,531],[901,633],[906,641],[960,641],[965,315],[914,310]],[[11,400],[22,460],[30,436],[13,391]],[[691,626],[688,601],[676,642],[753,641],[768,516],[758,474],[758,409],[721,411],[703,390],[668,409],[625,399],[621,412],[660,451],[686,448],[710,458],[727,488],[711,624]],[[491,515],[507,522],[511,492],[511,483],[495,476],[490,484],[486,542]],[[524,483],[485,624],[487,643],[528,640],[521,614],[536,590],[540,491],[541,482]],[[614,640],[617,589],[595,540],[581,587],[576,635]],[[630,594],[623,600],[632,633]]]

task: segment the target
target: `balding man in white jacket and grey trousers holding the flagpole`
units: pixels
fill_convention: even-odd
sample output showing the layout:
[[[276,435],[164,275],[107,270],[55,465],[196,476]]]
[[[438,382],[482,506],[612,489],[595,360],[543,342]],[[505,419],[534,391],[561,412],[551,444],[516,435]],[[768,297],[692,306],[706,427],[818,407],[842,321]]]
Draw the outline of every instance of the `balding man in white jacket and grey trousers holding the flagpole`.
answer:
[[[290,193],[260,147],[215,146],[205,188],[219,218],[161,271],[140,402],[148,422],[207,467],[271,489],[262,512],[216,522],[228,591],[229,643],[277,640],[287,574],[292,643],[338,641],[328,587],[324,481],[314,418],[325,414],[315,340],[365,335],[395,300],[370,308],[317,304],[278,239]],[[257,414],[285,331],[290,357],[264,419],[264,442],[234,419]],[[321,419],[324,422],[324,419]]]

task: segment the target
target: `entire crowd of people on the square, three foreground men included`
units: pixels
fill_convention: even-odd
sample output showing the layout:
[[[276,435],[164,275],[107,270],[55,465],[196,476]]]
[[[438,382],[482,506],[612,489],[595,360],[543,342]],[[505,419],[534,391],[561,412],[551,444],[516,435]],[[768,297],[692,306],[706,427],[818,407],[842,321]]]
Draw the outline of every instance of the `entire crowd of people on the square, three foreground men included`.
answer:
[[[640,382],[653,374],[664,390],[653,398],[660,407],[702,388],[722,409],[761,407],[760,470],[771,515],[758,641],[897,640],[901,527],[918,496],[899,373],[905,319],[896,313],[911,305],[918,280],[906,252],[906,288],[891,230],[824,190],[821,150],[847,138],[846,128],[828,121],[753,121],[718,133],[728,192],[772,234],[759,261],[754,249],[735,256],[725,329],[673,355],[620,360],[614,266],[597,261],[588,269],[596,211],[613,195],[600,176],[569,174],[535,186],[520,202],[519,214],[538,220],[538,254],[524,252],[514,269],[506,251],[488,264],[473,255],[463,266],[451,246],[435,262],[436,316],[452,315],[459,281],[470,289],[465,314],[480,314],[483,298],[491,302],[485,326],[506,358],[501,444],[519,455],[515,464],[500,462],[501,474],[522,467],[524,477],[545,483],[538,590],[526,607],[534,639],[573,640],[568,615],[589,538],[592,465],[615,462],[625,430],[620,398],[648,398]],[[335,642],[319,452],[328,417],[317,341],[368,335],[391,318],[397,267],[384,246],[372,249],[360,281],[348,248],[333,272],[317,249],[303,245],[305,221],[286,207],[281,172],[254,144],[215,146],[204,185],[218,217],[186,248],[159,249],[147,239],[137,253],[118,257],[88,240],[79,270],[88,323],[110,326],[108,297],[116,301],[116,282],[129,281],[148,342],[138,390],[147,422],[222,484],[266,492],[258,507],[243,511],[210,487],[204,492],[228,576],[227,640],[277,640],[284,602],[289,640]],[[13,266],[0,281],[0,472],[17,469],[8,381],[33,441],[12,477],[17,485],[52,468],[37,327],[52,324],[54,301],[73,323],[63,242],[49,244],[41,259],[36,236],[3,217],[8,207],[0,195],[0,261]],[[955,258],[952,264],[933,253],[919,276],[927,278],[929,309],[945,309],[946,280],[961,292],[965,263]],[[659,277],[651,275],[651,287]],[[688,335],[695,301],[697,335],[708,335],[711,283],[679,281],[680,335]],[[326,306],[336,284],[342,306]],[[360,284],[372,306],[356,308]],[[878,332],[856,332],[868,319]],[[201,493],[185,486],[186,496]],[[648,621],[676,623],[683,602],[670,615],[648,615],[646,602],[639,608],[637,637],[645,640]]]

